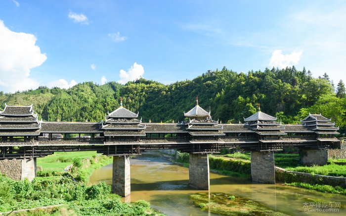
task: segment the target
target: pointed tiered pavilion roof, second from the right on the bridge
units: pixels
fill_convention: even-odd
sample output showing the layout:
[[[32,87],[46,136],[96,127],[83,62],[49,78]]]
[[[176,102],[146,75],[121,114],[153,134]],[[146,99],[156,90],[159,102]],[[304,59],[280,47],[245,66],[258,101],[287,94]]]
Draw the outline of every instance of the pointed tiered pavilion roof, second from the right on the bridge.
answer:
[[[285,126],[276,121],[276,117],[259,111],[244,118],[246,124],[259,135],[286,135]]]

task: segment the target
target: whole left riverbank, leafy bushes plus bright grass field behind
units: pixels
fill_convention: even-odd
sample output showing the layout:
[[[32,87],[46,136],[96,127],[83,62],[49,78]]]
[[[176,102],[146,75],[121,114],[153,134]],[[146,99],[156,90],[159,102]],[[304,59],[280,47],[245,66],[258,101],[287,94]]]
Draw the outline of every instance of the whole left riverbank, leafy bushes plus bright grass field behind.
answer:
[[[32,182],[0,176],[0,212],[28,209],[17,214],[161,215],[143,200],[123,203],[120,196],[111,193],[110,185],[88,183],[95,169],[111,162],[111,157],[96,152],[56,153],[38,159],[42,171]],[[67,166],[70,171],[63,171]]]

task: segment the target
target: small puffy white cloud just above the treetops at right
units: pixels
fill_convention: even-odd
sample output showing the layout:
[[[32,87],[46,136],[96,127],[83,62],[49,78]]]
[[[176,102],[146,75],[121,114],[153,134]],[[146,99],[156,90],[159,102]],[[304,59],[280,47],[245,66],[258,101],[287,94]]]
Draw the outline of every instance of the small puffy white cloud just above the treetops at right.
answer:
[[[282,50],[275,50],[271,55],[269,66],[285,68],[298,64],[301,60],[303,51],[292,52],[291,54],[282,54]]]

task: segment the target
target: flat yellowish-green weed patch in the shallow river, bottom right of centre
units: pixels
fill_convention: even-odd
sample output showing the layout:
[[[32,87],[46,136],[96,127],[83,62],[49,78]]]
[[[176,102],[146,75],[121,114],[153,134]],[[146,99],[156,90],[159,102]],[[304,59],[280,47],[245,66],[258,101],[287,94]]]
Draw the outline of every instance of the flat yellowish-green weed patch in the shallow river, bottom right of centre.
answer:
[[[211,194],[198,193],[190,195],[195,206],[202,210],[227,216],[248,216],[248,215],[272,215],[285,216],[280,212],[275,212],[259,203],[241,197],[234,197],[224,193]]]

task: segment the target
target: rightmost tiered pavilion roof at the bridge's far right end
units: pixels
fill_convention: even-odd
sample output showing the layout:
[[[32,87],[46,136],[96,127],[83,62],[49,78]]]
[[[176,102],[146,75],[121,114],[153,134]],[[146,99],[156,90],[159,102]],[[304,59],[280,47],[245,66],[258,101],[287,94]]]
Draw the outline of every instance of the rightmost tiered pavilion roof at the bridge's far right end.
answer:
[[[316,134],[340,134],[337,132],[339,127],[335,127],[335,122],[331,122],[330,118],[326,118],[321,114],[310,114],[301,120],[303,126],[309,130],[313,130]]]

